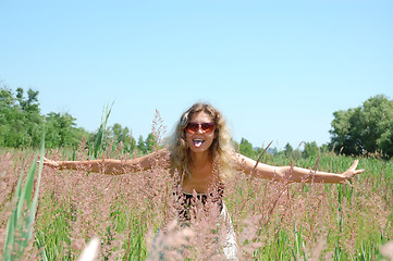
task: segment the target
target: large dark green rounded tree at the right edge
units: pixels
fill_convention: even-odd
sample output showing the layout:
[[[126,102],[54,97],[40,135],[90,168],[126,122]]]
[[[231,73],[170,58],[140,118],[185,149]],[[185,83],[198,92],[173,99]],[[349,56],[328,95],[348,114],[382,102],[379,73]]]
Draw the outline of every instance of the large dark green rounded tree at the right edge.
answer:
[[[393,156],[393,101],[379,95],[361,107],[333,113],[330,148],[345,154],[381,151]]]

